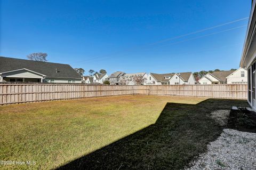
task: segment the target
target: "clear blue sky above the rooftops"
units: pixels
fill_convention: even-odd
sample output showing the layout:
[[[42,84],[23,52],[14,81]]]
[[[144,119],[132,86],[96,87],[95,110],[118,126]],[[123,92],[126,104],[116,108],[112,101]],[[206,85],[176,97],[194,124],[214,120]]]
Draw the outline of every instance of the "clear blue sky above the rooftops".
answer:
[[[238,68],[251,8],[250,0],[0,3],[1,56],[45,52],[49,62],[84,68],[85,75]]]

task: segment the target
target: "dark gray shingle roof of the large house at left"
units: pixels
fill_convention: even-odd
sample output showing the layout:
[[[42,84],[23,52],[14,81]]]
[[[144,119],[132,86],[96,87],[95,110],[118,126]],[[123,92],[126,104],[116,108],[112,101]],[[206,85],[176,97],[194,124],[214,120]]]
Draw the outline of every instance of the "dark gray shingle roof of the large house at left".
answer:
[[[46,77],[81,78],[69,64],[6,58],[0,56],[0,72],[26,68]],[[58,72],[56,72],[58,69]]]

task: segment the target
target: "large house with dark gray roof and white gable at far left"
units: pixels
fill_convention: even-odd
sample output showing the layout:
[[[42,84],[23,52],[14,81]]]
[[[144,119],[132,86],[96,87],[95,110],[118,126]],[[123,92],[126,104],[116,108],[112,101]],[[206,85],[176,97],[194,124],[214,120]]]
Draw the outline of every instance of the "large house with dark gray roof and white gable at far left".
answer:
[[[0,82],[81,83],[69,64],[23,60],[0,56]]]

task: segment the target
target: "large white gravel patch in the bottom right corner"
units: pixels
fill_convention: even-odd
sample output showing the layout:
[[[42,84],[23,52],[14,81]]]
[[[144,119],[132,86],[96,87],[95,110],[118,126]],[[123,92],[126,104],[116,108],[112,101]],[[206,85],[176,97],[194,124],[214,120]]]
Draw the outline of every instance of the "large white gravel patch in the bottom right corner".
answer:
[[[224,129],[188,169],[256,169],[256,133]]]

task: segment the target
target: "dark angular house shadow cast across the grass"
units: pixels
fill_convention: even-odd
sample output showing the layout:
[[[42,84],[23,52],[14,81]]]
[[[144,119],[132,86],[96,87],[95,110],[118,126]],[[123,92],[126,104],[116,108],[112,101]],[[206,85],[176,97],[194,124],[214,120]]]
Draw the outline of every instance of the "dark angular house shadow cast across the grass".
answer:
[[[209,99],[198,104],[167,103],[156,123],[58,169],[180,169],[205,152],[220,127],[214,110],[247,107],[244,100]],[[131,125],[132,126],[132,125]]]

